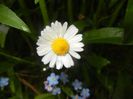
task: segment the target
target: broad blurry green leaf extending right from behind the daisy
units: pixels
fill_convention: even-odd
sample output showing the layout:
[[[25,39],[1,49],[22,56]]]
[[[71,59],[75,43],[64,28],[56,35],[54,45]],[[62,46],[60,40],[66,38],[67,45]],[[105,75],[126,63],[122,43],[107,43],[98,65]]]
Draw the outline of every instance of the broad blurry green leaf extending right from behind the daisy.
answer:
[[[123,29],[106,27],[85,32],[83,41],[89,43],[121,44],[123,40]]]

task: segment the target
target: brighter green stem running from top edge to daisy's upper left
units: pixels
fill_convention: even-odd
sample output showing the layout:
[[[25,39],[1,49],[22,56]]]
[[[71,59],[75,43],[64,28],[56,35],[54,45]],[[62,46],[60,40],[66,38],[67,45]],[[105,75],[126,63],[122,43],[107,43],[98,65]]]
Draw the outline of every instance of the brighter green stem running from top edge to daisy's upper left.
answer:
[[[44,24],[47,25],[49,23],[49,17],[47,13],[47,7],[46,7],[45,0],[39,0],[39,5],[40,5],[41,13],[43,16]]]

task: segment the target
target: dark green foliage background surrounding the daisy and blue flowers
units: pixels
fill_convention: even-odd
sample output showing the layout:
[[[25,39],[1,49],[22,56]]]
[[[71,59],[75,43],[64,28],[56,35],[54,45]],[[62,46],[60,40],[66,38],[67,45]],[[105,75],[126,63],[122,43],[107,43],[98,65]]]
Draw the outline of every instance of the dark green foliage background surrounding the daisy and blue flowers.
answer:
[[[10,83],[0,99],[59,98],[43,81],[61,71],[42,71],[36,54],[40,31],[55,20],[75,24],[85,43],[82,59],[61,71],[86,83],[89,99],[133,99],[133,0],[1,0],[0,75]],[[67,99],[71,90],[63,89]]]

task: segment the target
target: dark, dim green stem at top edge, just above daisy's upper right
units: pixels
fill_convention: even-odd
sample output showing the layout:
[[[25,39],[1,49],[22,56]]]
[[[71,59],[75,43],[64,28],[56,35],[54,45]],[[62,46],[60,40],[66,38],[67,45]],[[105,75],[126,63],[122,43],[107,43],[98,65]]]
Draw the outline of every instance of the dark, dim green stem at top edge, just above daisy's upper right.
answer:
[[[73,20],[72,0],[67,0],[67,13],[68,13],[69,22],[72,22]]]

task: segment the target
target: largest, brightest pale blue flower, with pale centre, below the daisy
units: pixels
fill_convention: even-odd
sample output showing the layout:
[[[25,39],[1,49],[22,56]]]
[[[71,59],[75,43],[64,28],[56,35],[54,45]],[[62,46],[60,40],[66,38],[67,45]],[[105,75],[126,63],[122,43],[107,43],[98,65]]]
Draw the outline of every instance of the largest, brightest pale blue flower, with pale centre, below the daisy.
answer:
[[[55,86],[59,83],[59,76],[55,75],[55,73],[51,73],[50,76],[48,76],[47,81],[50,86]]]

